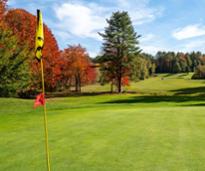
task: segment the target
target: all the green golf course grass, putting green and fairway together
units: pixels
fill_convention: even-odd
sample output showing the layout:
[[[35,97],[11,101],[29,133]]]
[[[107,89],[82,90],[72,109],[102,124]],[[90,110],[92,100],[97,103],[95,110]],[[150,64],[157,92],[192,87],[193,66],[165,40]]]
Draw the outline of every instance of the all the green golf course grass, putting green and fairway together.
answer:
[[[137,94],[48,99],[52,170],[203,171],[204,86],[190,75],[163,74],[127,87]],[[2,171],[46,170],[43,109],[32,105],[0,99]]]

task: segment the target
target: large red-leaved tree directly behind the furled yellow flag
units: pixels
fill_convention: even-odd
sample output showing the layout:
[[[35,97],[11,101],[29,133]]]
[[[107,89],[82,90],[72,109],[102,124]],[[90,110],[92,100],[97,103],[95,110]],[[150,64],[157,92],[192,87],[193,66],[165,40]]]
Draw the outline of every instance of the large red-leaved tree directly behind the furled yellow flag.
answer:
[[[30,63],[32,83],[40,85],[40,66],[34,60],[36,17],[23,9],[9,10],[5,16],[6,24],[18,36],[21,44],[27,44],[30,49]],[[45,83],[47,90],[54,90],[60,79],[62,61],[59,60],[60,52],[51,30],[44,24],[43,60],[45,66]]]

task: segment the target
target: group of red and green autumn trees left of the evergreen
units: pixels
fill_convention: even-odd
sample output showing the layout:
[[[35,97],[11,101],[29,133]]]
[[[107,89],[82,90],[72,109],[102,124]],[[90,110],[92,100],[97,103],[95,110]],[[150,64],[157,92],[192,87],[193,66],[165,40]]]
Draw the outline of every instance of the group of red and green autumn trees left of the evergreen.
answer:
[[[0,96],[36,94],[41,89],[39,62],[35,60],[36,16],[23,9],[8,9],[0,0]],[[60,50],[44,23],[43,62],[46,91],[63,91],[95,81],[96,72],[85,48]]]

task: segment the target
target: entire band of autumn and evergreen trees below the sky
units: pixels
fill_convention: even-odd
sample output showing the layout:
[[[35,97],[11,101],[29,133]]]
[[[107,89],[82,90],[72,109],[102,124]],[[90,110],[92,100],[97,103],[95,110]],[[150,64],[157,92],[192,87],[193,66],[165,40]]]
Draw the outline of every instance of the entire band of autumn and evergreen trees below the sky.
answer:
[[[40,66],[34,60],[36,16],[23,9],[8,9],[6,3],[0,0],[0,96],[29,97],[41,89]],[[44,23],[46,91],[81,92],[82,86],[99,82],[109,83],[111,91],[120,93],[130,81],[155,73],[193,72],[205,64],[200,52],[142,53],[141,35],[135,32],[128,12],[113,12],[106,21],[107,27],[99,33],[101,55],[94,59],[80,44],[60,50]]]

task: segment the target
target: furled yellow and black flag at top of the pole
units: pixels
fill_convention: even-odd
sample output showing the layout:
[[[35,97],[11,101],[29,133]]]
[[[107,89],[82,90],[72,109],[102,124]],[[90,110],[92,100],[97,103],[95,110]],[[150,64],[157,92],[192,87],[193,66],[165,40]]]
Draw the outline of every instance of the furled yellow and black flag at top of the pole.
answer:
[[[43,35],[43,17],[40,10],[37,10],[37,26],[36,26],[36,44],[35,44],[35,53],[38,61],[42,58],[42,49],[44,44],[44,35]]]

